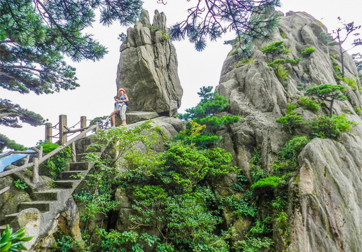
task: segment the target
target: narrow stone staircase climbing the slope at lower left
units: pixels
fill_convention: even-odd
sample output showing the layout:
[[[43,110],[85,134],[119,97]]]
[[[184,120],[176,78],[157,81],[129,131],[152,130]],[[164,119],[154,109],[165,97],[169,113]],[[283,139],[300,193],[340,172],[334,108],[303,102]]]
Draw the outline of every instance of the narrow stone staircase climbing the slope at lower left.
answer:
[[[97,150],[96,155],[102,155],[104,149]],[[72,197],[74,190],[94,166],[91,162],[83,161],[85,155],[94,151],[87,151],[86,147],[84,150],[85,153],[77,155],[77,162],[69,163],[69,171],[62,172],[61,179],[54,181],[55,188],[32,193],[32,201],[20,203],[18,212],[5,216],[4,222],[12,226],[12,221],[18,217],[21,211],[25,209],[38,209],[40,212],[41,230],[46,233],[51,228],[53,220],[64,211],[66,202]],[[5,228],[6,224],[1,225],[0,232],[2,233]]]

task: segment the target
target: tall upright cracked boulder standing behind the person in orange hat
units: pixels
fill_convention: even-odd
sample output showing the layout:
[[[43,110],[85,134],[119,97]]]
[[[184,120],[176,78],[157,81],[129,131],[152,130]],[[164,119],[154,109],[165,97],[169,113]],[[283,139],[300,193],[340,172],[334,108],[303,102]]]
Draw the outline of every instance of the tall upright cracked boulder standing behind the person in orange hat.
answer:
[[[177,56],[166,29],[166,16],[155,10],[153,25],[147,11],[120,46],[117,87],[130,99],[128,111],[155,111],[174,116],[181,106],[182,88]]]

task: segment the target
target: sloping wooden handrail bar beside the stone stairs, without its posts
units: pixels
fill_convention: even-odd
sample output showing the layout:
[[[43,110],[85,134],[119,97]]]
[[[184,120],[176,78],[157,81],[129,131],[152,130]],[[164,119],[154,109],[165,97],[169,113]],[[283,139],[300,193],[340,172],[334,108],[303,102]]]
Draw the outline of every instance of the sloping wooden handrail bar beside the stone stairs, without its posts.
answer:
[[[43,157],[39,157],[38,158],[38,164],[40,165],[42,162],[48,160],[49,158],[53,157],[53,155],[57,154],[58,152],[62,151],[62,149],[66,148],[67,146],[69,146],[71,143],[81,139],[82,137],[84,137],[85,134],[87,134],[88,132],[90,132],[91,130],[97,130],[98,129],[98,125],[91,125],[90,127],[86,128],[83,132],[81,132],[81,134],[78,134],[78,136],[74,137],[73,139],[67,141],[67,143],[62,144],[61,146],[59,146],[58,148],[56,148],[53,151],[50,151],[50,153],[48,153],[47,155],[43,156]],[[19,172],[19,171],[23,171],[29,167],[34,166],[34,162],[30,162],[28,164],[22,165],[18,168],[14,168],[11,170],[8,170],[6,172],[0,172],[0,178],[4,177],[4,176],[8,176],[10,174],[13,174],[15,172]]]

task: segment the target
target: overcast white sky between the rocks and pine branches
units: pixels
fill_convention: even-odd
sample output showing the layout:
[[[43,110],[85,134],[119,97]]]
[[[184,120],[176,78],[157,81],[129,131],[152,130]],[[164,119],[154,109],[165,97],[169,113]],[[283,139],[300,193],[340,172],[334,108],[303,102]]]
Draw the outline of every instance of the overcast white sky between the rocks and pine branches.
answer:
[[[186,16],[188,6],[193,6],[197,0],[169,0],[167,5],[157,3],[157,0],[144,0],[144,8],[148,10],[153,20],[153,12],[158,9],[167,16],[167,25],[173,25]],[[289,10],[305,11],[321,20],[331,31],[337,26],[337,17],[340,16],[347,22],[354,21],[356,25],[362,25],[362,1],[361,0],[282,0],[279,10],[284,13]],[[68,125],[72,126],[80,120],[81,116],[88,119],[104,116],[113,110],[113,96],[116,95],[116,72],[120,57],[120,41],[117,39],[120,32],[125,32],[125,27],[113,24],[111,27],[102,27],[98,23],[88,29],[88,34],[94,34],[109,50],[104,59],[99,62],[83,61],[80,63],[69,62],[77,69],[76,76],[81,87],[76,90],[64,91],[55,94],[19,94],[1,89],[0,97],[10,99],[36,113],[43,118],[48,118],[53,125],[57,124],[58,116],[68,116]],[[362,29],[361,29],[362,33]],[[235,38],[230,33],[228,37],[218,40],[216,43],[208,43],[206,50],[197,52],[193,44],[188,41],[174,41],[179,59],[179,78],[183,87],[182,106],[179,112],[183,112],[199,101],[197,92],[200,87],[218,85],[221,67],[230,51],[230,45],[223,45],[225,39]],[[354,52],[362,52],[360,46]],[[132,97],[130,97],[132,102]],[[44,139],[45,127],[31,127],[24,124],[21,129],[0,126],[1,134],[6,134],[10,139],[25,146],[34,146],[37,141]]]

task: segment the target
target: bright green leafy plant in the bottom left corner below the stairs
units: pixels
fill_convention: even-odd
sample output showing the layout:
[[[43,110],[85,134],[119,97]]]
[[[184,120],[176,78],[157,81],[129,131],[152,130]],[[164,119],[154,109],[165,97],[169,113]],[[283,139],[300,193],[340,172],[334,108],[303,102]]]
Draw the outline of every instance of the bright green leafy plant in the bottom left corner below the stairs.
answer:
[[[25,237],[25,228],[21,228],[13,233],[13,229],[7,224],[0,237],[0,251],[22,251],[27,248],[22,244],[24,241],[30,241],[33,237]]]

